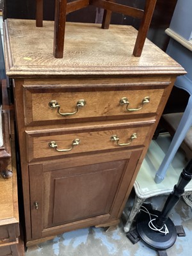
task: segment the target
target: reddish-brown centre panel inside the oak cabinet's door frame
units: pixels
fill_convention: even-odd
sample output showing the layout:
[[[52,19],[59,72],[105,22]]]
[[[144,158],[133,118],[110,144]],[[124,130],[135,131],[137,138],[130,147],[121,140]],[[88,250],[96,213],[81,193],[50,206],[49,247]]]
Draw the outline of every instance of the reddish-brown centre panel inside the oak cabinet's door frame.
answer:
[[[52,172],[53,216],[49,226],[108,214],[125,163],[120,160]]]

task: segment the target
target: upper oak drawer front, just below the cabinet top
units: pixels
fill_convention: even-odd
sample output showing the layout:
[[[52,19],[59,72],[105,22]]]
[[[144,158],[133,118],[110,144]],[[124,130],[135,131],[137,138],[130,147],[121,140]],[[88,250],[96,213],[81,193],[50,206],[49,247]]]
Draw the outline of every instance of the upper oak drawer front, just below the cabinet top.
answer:
[[[83,89],[82,89],[83,90]],[[96,90],[96,89],[95,89]],[[90,118],[106,119],[116,118],[117,116],[129,116],[138,114],[154,114],[157,111],[161,97],[163,96],[163,89],[148,89],[148,90],[109,90],[97,89],[97,92],[92,89],[89,92],[81,92],[81,90],[56,90],[41,88],[33,89],[24,87],[24,115],[26,125],[33,124],[33,122],[40,121],[54,121],[54,120],[90,120]],[[129,100],[129,109],[141,108],[143,99],[150,98],[150,102],[143,104],[143,108],[137,111],[127,111],[127,104],[121,105],[122,98]],[[61,113],[73,113],[77,109],[78,100],[85,100],[86,104],[74,115],[60,115],[57,108],[50,108],[49,102],[56,100],[60,105]],[[79,120],[78,120],[79,121]]]

